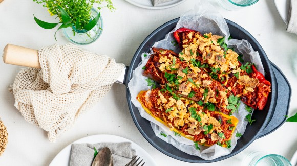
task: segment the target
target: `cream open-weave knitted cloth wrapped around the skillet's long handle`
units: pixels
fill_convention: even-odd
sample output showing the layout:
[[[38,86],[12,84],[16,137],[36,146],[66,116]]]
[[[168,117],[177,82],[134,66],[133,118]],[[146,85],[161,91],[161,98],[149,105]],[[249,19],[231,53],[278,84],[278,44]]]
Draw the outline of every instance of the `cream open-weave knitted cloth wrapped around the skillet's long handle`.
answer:
[[[42,48],[38,56],[41,69],[22,69],[10,90],[25,120],[47,131],[53,143],[110,90],[125,66],[72,44]]]

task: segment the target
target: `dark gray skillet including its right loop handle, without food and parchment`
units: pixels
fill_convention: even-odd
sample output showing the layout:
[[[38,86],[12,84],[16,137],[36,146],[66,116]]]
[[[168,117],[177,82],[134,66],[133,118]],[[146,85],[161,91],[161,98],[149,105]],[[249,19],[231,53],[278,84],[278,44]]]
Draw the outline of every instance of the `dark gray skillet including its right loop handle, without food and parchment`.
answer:
[[[132,78],[133,70],[141,61],[141,53],[149,52],[150,48],[154,45],[155,42],[164,39],[165,35],[175,28],[178,20],[179,18],[176,18],[174,20],[166,22],[164,25],[160,26],[154,32],[152,32],[141,43],[131,61],[128,74],[125,79],[126,85],[128,85],[128,82]],[[144,138],[149,141],[150,144],[152,144],[162,153],[172,158],[193,163],[209,163],[220,161],[241,152],[247,146],[249,146],[252,141],[273,132],[285,122],[286,118],[284,117],[284,115],[287,115],[288,113],[291,98],[291,87],[288,80],[281,72],[281,70],[268,60],[261,45],[250,33],[248,33],[245,29],[230,20],[226,19],[226,22],[229,26],[230,35],[232,36],[232,38],[248,40],[253,49],[259,52],[264,70],[266,72],[265,78],[271,82],[271,93],[269,94],[268,102],[264,110],[254,111],[252,118],[256,119],[256,122],[254,122],[251,126],[247,125],[245,133],[237,141],[235,149],[230,154],[213,160],[204,160],[200,157],[186,154],[178,150],[171,144],[167,144],[165,143],[165,141],[158,138],[153,132],[150,122],[147,121],[145,118],[142,118],[139,114],[138,109],[132,104],[129,88],[127,88],[126,94],[128,106],[133,121],[138,130],[144,136]]]

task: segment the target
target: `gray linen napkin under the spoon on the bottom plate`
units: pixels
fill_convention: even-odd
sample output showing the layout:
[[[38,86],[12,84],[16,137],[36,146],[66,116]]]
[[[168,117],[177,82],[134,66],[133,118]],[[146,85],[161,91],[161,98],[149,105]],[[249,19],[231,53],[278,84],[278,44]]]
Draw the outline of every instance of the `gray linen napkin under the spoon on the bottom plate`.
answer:
[[[70,166],[89,166],[94,159],[94,147],[99,152],[108,147],[113,155],[114,166],[122,166],[135,156],[135,149],[131,143],[98,143],[98,144],[72,144]]]

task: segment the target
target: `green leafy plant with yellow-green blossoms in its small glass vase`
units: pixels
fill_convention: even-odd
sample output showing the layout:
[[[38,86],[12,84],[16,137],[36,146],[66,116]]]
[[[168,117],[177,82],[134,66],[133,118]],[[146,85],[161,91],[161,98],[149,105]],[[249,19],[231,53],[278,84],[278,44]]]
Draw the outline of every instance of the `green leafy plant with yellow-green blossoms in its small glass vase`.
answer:
[[[103,20],[100,11],[107,7],[115,11],[111,0],[33,0],[48,8],[51,16],[57,15],[58,23],[42,21],[34,16],[35,22],[42,28],[52,29],[57,26],[63,29],[65,36],[77,44],[89,44],[95,41],[102,33]],[[93,8],[97,5],[97,8]],[[105,5],[102,7],[102,5]],[[57,32],[56,31],[56,32]],[[56,39],[55,32],[55,39]],[[71,33],[70,33],[71,32]]]

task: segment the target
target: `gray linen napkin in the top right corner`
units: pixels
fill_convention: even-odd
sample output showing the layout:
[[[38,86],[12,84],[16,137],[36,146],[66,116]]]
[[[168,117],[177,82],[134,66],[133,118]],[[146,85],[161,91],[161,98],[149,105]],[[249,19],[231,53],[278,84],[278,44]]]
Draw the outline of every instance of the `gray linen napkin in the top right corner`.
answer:
[[[287,32],[297,34],[297,0],[291,0]]]

